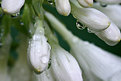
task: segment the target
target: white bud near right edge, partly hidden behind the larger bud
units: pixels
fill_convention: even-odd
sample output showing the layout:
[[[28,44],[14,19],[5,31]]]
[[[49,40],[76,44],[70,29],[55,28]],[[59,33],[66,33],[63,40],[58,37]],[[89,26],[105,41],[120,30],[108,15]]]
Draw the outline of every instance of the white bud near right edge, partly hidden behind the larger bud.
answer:
[[[95,34],[111,46],[116,45],[121,40],[120,30],[113,23],[111,23],[107,29],[100,32],[95,32]]]

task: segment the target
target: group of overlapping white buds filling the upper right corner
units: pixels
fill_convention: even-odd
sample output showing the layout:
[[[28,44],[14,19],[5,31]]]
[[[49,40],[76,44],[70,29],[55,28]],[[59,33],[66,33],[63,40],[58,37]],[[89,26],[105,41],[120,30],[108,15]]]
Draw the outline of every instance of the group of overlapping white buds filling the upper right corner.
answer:
[[[77,19],[78,22],[83,24],[85,27],[88,28],[88,30],[91,33],[94,33],[95,35],[97,35],[99,38],[101,38],[105,43],[107,43],[110,46],[114,46],[120,41],[121,34],[117,26],[120,27],[121,18],[117,16],[117,13],[120,14],[119,9],[121,8],[118,7],[117,10],[112,9],[112,8],[104,9],[104,8],[100,8],[99,3],[97,3],[98,7],[97,5],[94,7],[101,10],[104,13],[107,13],[105,15],[104,13],[102,13],[101,11],[95,8],[87,8],[87,7],[93,6],[93,4],[95,5],[95,3],[93,3],[93,0],[78,0],[78,1],[70,0],[70,4],[68,0],[65,0],[65,1],[67,1],[68,4],[67,2],[64,3],[64,1],[56,0],[56,2],[58,3],[56,5],[56,8],[60,14],[62,14],[61,12],[63,12],[62,15],[67,14],[67,13],[68,13],[67,15],[69,15],[71,11],[71,14],[74,16],[74,18]],[[100,4],[103,4],[103,3],[116,4],[116,3],[121,2],[120,0],[116,0],[116,1],[115,0],[111,0],[111,1],[110,0],[106,0],[106,1],[97,0],[97,1],[100,2]],[[63,6],[63,4],[66,4],[66,6],[65,5]],[[70,10],[70,5],[71,5],[71,10]],[[67,8],[67,6],[69,8]],[[110,9],[112,9],[112,13],[109,13]],[[113,15],[116,17],[114,17]]]

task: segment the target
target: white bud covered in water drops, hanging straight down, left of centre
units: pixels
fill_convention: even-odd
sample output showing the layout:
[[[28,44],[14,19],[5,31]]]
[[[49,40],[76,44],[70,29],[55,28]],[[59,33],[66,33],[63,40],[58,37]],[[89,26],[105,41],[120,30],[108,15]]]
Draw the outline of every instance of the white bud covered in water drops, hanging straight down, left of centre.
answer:
[[[36,72],[42,72],[47,68],[50,49],[50,45],[44,36],[43,28],[37,27],[28,48],[29,61]]]

